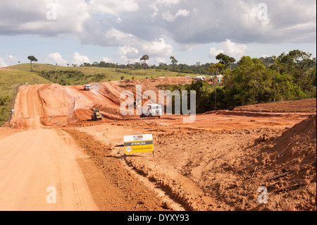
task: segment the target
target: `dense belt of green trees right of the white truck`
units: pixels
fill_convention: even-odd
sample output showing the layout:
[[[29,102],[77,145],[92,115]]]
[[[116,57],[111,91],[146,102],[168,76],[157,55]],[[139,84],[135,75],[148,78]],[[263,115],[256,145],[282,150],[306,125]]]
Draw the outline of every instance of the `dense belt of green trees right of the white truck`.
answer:
[[[215,66],[209,66],[209,71],[213,71],[211,68]],[[304,51],[294,50],[273,56],[269,63],[243,56],[237,62],[237,68],[232,69],[228,64],[223,67],[223,83],[197,81],[191,85],[166,88],[172,91],[196,90],[197,113],[248,104],[316,98],[316,58]]]

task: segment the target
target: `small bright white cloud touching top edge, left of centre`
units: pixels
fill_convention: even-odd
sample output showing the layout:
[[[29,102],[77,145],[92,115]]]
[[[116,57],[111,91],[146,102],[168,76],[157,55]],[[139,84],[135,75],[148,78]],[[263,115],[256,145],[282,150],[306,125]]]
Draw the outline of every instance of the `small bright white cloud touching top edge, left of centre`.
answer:
[[[91,0],[90,13],[111,14],[118,16],[121,12],[137,11],[139,5],[134,0]]]

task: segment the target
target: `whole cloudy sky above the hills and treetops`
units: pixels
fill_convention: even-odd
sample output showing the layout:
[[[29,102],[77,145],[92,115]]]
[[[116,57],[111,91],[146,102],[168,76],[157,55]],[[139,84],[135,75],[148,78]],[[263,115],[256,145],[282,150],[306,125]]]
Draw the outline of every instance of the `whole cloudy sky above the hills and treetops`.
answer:
[[[0,67],[108,61],[216,62],[223,52],[316,57],[316,1],[11,0],[0,6]]]

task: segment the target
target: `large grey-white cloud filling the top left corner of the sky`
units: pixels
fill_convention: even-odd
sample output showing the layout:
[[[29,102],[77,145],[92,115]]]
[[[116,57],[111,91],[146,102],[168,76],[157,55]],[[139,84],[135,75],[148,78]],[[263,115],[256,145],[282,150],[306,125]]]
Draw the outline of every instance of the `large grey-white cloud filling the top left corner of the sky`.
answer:
[[[53,12],[56,15],[54,20],[51,16]],[[56,36],[82,32],[82,23],[88,18],[90,15],[85,0],[3,1],[0,7],[0,34]]]

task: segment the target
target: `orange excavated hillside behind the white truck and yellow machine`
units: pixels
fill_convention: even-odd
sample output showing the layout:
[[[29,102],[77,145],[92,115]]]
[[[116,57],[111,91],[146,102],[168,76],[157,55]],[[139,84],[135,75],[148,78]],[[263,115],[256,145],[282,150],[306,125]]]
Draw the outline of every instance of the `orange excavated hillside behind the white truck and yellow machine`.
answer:
[[[120,99],[120,94],[124,90],[131,90],[135,94],[135,85],[139,84],[142,85],[142,92],[153,90],[159,97],[159,87],[156,86],[160,83],[189,83],[189,80],[157,78],[132,80],[123,82],[124,84],[122,82],[90,83],[92,87],[90,91],[83,90],[80,85],[24,85],[20,87],[18,102],[15,104],[13,124],[15,127],[65,126],[68,123],[89,121],[94,108],[99,108],[104,118],[122,119],[120,105],[125,99]],[[130,106],[131,104],[133,102],[130,102]],[[37,121],[37,124],[29,123],[25,119]]]

